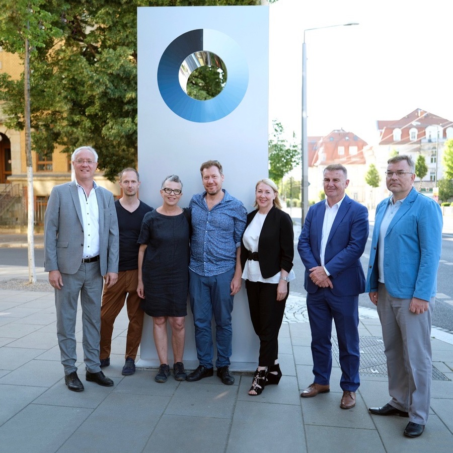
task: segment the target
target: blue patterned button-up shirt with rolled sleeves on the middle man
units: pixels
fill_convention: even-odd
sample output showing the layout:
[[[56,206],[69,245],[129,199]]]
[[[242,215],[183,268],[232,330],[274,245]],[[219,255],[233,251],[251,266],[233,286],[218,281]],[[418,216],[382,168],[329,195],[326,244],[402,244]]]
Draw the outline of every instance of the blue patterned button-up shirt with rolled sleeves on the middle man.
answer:
[[[190,200],[192,237],[190,269],[198,275],[211,277],[236,266],[236,249],[241,247],[247,220],[247,210],[226,190],[223,199],[210,211],[204,197],[195,194]]]

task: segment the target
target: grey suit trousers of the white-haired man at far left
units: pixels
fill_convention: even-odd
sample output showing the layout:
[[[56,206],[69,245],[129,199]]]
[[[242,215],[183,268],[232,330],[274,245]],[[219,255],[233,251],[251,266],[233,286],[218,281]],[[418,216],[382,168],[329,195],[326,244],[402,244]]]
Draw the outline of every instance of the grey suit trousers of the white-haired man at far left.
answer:
[[[99,342],[103,286],[99,261],[81,263],[75,274],[61,274],[61,277],[63,286],[61,289],[55,289],[55,308],[58,346],[64,374],[77,371],[77,366],[75,366],[77,361],[75,320],[79,294],[82,307],[84,361],[88,371],[98,372],[101,370]]]

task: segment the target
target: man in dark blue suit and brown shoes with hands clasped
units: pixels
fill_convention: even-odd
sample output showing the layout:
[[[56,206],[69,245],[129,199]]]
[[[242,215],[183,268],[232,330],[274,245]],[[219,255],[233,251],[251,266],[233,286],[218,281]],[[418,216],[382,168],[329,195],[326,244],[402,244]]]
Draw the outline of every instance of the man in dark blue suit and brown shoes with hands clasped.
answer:
[[[342,371],[340,407],[350,409],[360,385],[358,295],[365,290],[360,257],[368,239],[368,211],[345,194],[349,180],[342,165],[327,166],[323,182],[326,200],[310,207],[297,245],[306,269],[315,375],[313,384],[300,396],[310,398],[330,391],[334,319]]]

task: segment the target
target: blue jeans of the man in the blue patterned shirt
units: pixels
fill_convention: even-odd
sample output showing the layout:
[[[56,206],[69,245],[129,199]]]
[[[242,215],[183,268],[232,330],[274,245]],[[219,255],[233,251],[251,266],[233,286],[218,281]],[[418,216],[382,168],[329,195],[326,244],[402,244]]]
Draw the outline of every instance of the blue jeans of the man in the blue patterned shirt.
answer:
[[[198,275],[189,269],[189,299],[195,326],[195,345],[200,365],[212,368],[214,346],[211,320],[214,315],[217,359],[215,366],[229,366],[232,353],[233,330],[231,312],[233,298],[230,284],[235,269],[212,277]]]

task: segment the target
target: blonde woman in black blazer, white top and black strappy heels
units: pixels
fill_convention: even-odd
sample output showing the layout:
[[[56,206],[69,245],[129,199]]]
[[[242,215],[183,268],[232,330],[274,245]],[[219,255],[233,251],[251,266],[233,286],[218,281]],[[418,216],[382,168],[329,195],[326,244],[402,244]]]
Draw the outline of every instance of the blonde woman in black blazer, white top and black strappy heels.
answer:
[[[256,210],[247,216],[241,242],[242,278],[246,280],[250,317],[260,338],[258,368],[249,395],[278,384],[278,332],[283,320],[289,281],[294,278],[294,233],[291,217],[281,210],[278,188],[270,179],[258,181]]]

